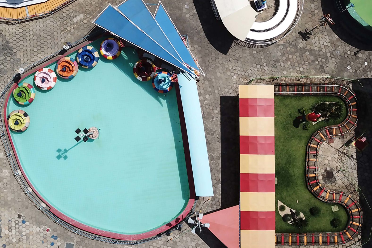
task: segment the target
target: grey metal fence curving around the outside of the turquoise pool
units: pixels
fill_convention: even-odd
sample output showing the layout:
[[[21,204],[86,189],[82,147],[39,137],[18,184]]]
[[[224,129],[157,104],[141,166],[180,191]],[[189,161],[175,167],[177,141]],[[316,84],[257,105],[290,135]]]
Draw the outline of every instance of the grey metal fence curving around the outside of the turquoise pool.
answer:
[[[78,40],[78,41],[76,41],[74,43],[71,43],[71,45],[67,49],[61,49],[61,50],[59,50],[59,51],[57,51],[55,53],[52,53],[51,55],[46,56],[45,58],[43,58],[43,59],[41,59],[41,60],[39,60],[37,62],[32,63],[31,65],[27,66],[24,69],[24,71],[22,72],[22,74],[26,74],[27,72],[29,72],[33,68],[41,65],[42,63],[47,62],[49,59],[52,59],[52,58],[54,58],[56,56],[63,55],[69,49],[71,49],[71,48],[73,48],[75,46],[78,46],[78,45],[80,45],[83,42],[94,40],[97,37],[103,35],[104,33],[106,33],[106,31],[105,30],[102,30],[102,29],[100,29],[100,30],[98,30],[96,32],[93,32],[93,33],[91,33],[91,34],[83,37],[82,39],[80,39],[80,40]],[[14,75],[13,78],[8,82],[8,84],[1,91],[1,95],[0,95],[0,109],[1,110],[4,109],[4,101],[5,101],[5,97],[7,95],[7,92],[9,91],[10,88],[13,87],[14,84],[17,84],[18,83],[18,81],[21,78],[21,75],[22,74],[17,73],[16,75]],[[19,184],[19,186],[21,187],[23,193],[25,193],[25,195],[29,198],[29,200],[33,203],[33,205],[35,205],[35,207],[39,211],[41,211],[42,213],[44,213],[44,215],[46,215],[53,222],[57,223],[58,225],[62,226],[65,229],[67,229],[68,231],[70,231],[70,232],[72,232],[74,234],[78,234],[80,236],[84,236],[85,238],[89,238],[89,239],[97,240],[97,241],[102,241],[102,242],[109,243],[109,244],[140,245],[140,244],[143,244],[143,243],[148,242],[148,241],[157,240],[157,239],[161,238],[162,236],[164,236],[164,235],[166,235],[166,234],[168,234],[168,233],[176,230],[177,227],[178,227],[178,225],[181,225],[183,222],[185,222],[195,212],[196,204],[198,202],[198,197],[196,197],[196,199],[195,199],[195,202],[193,204],[192,210],[189,213],[187,213],[187,215],[185,216],[185,218],[183,218],[176,226],[173,226],[172,228],[170,228],[170,229],[168,229],[168,230],[166,230],[164,232],[161,232],[161,233],[157,234],[156,236],[153,236],[153,237],[150,237],[150,238],[146,238],[146,239],[133,240],[133,241],[131,241],[131,240],[111,239],[111,238],[106,238],[106,237],[103,237],[103,236],[94,235],[94,234],[91,234],[89,232],[80,230],[80,229],[74,227],[73,225],[70,225],[69,223],[63,221],[62,219],[60,219],[57,216],[55,216],[52,212],[50,212],[49,209],[47,208],[47,206],[45,206],[45,204],[37,196],[35,196],[34,193],[31,192],[31,189],[28,187],[28,184],[27,184],[26,180],[23,178],[23,176],[21,176],[19,174],[20,168],[19,168],[19,165],[16,163],[16,159],[14,157],[13,150],[9,146],[9,141],[7,139],[7,134],[6,134],[6,130],[5,130],[5,125],[7,125],[7,124],[4,122],[4,117],[2,115],[3,115],[3,112],[0,112],[0,116],[1,116],[1,121],[0,121],[0,140],[1,140],[1,143],[3,144],[4,152],[6,154],[6,157],[7,157],[8,162],[9,162],[10,169],[12,169],[13,176],[15,177],[15,179],[16,179],[17,183]]]

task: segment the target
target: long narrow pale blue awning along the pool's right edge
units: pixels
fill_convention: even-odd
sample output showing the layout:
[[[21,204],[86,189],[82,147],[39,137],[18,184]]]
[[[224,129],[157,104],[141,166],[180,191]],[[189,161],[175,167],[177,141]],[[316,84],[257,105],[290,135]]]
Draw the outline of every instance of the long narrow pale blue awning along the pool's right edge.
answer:
[[[195,79],[186,73],[177,75],[183,114],[189,140],[192,174],[196,196],[213,196],[211,169],[204,133],[202,110]]]

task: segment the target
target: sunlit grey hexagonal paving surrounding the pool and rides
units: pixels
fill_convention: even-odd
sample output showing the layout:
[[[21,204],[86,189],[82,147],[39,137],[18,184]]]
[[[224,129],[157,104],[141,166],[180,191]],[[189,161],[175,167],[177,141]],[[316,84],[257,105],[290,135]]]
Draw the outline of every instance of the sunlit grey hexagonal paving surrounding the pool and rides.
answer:
[[[108,3],[116,5],[119,2],[77,0],[45,19],[16,26],[1,25],[1,87],[14,75],[14,69],[25,67],[61,49],[63,42],[75,41],[86,35],[93,28],[91,22],[94,17]],[[256,77],[278,75],[371,77],[372,53],[361,51],[354,56],[357,49],[340,40],[330,27],[315,30],[307,42],[297,34],[318,24],[323,15],[320,0],[305,1],[298,26],[285,39],[264,49],[230,48],[233,38],[223,29],[221,22],[215,20],[209,0],[163,0],[163,4],[180,32],[189,35],[190,49],[207,74],[198,84],[215,192],[211,203],[205,206],[206,211],[238,203],[236,182],[239,160],[236,154],[239,154],[239,146],[236,143],[238,139],[232,137],[238,137],[234,111],[237,111],[239,84]],[[351,69],[347,69],[349,65]],[[363,153],[363,156],[366,163],[371,161],[368,155]],[[108,245],[71,234],[52,223],[35,209],[20,190],[1,151],[0,162],[0,245],[10,248],[65,248],[70,243],[74,244],[74,248],[126,248],[125,245]],[[363,178],[371,176],[370,168],[366,167]],[[20,219],[18,214],[22,215]],[[51,230],[46,232],[47,228]],[[169,242],[165,236],[160,241],[140,247],[224,247],[208,231],[203,238],[205,242],[187,231]]]

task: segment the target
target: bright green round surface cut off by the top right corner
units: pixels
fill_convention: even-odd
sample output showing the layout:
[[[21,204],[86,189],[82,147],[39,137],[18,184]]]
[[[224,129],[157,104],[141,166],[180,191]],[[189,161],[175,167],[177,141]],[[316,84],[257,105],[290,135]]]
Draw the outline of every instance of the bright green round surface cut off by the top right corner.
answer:
[[[345,0],[348,12],[363,26],[365,23],[359,20],[362,19],[366,24],[372,26],[372,1],[371,0],[353,0],[354,7],[350,7],[350,0]],[[356,13],[356,14],[355,14]]]

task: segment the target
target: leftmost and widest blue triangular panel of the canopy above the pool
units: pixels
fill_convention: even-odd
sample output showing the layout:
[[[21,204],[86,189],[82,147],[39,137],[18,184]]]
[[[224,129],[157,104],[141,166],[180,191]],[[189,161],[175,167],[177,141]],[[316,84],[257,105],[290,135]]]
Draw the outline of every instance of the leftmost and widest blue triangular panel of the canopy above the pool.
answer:
[[[149,13],[149,12],[148,12]],[[149,13],[151,15],[151,13]],[[113,21],[115,20],[115,21]],[[125,15],[109,4],[105,10],[93,21],[97,26],[121,37],[124,40],[146,50],[149,53],[171,63],[183,71],[194,74],[186,65],[161,47],[153,38],[138,29]]]

